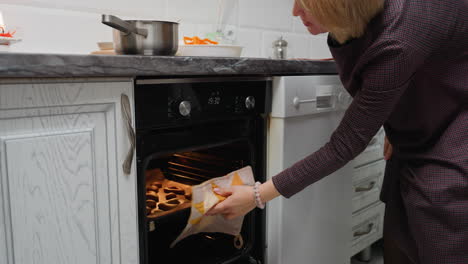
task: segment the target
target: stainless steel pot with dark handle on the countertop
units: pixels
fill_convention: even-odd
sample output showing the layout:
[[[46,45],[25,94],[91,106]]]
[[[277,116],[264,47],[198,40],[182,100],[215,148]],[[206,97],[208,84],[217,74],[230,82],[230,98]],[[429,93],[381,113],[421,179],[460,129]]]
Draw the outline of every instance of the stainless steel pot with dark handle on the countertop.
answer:
[[[102,23],[114,28],[117,54],[172,56],[179,48],[179,23],[149,20],[121,20],[102,15]]]

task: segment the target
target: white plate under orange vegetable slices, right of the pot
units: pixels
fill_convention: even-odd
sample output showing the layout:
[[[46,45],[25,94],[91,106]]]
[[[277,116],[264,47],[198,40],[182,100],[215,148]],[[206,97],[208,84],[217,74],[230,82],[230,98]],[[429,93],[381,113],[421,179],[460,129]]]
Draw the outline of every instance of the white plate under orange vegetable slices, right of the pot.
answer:
[[[242,49],[234,45],[179,45],[176,56],[240,57]]]

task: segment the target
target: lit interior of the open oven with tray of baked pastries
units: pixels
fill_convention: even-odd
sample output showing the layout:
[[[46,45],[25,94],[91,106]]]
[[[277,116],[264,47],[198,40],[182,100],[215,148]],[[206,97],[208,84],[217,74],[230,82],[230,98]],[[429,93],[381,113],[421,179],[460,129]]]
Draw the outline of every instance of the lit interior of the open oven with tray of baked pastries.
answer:
[[[151,156],[146,162],[148,263],[221,263],[251,250],[253,215],[244,218],[241,238],[201,233],[169,245],[190,216],[191,186],[251,164],[248,141]]]

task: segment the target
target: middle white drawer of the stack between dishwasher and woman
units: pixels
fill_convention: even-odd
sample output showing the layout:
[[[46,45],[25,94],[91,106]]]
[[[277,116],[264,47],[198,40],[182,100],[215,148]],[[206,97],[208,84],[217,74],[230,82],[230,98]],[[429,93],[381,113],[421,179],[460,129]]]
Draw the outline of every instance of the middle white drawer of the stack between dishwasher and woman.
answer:
[[[379,200],[385,161],[377,161],[353,171],[353,212]]]

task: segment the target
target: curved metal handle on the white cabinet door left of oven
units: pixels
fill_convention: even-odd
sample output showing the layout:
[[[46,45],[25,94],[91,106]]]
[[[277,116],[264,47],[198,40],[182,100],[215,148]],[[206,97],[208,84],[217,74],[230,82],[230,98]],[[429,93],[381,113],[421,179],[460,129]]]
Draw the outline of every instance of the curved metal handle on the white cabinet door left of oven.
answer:
[[[128,140],[130,141],[130,149],[128,150],[127,157],[125,158],[125,161],[122,164],[122,168],[124,173],[129,175],[132,169],[133,153],[135,152],[136,135],[135,130],[132,127],[132,110],[130,107],[130,100],[128,99],[128,96],[126,94],[122,94],[120,96],[120,103],[122,106],[123,119],[127,128]]]

